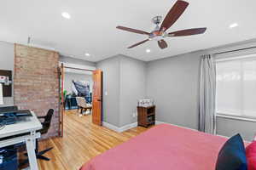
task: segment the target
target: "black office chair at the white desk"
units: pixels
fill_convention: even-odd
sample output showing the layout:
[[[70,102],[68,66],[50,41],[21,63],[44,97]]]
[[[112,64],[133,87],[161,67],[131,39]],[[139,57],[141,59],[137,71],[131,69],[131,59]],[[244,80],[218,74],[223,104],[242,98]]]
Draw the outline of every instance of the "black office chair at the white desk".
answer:
[[[44,122],[41,122],[43,128],[38,130],[37,132],[39,132],[41,134],[48,133],[48,130],[49,130],[49,127],[50,127],[51,118],[52,118],[53,114],[54,114],[54,110],[50,109],[46,116],[38,116],[38,119],[44,119]],[[36,139],[36,150],[35,151],[36,151],[37,159],[44,160],[44,161],[49,161],[50,159],[48,157],[44,156],[44,154],[46,152],[48,152],[49,150],[52,150],[52,149],[53,149],[53,147],[50,147],[50,148],[48,148],[46,150],[38,151],[38,139]],[[27,156],[27,154],[25,154],[25,156]],[[28,159],[26,159],[25,161],[21,162],[20,166],[23,166],[26,163],[28,163]]]

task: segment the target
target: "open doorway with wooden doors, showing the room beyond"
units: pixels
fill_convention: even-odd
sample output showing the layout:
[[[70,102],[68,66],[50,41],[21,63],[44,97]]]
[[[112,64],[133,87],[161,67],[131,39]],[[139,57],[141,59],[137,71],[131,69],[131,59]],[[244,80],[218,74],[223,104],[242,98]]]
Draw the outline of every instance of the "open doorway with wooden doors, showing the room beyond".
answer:
[[[61,137],[67,114],[73,114],[72,117],[88,116],[92,123],[102,126],[102,71],[61,63],[60,103]]]

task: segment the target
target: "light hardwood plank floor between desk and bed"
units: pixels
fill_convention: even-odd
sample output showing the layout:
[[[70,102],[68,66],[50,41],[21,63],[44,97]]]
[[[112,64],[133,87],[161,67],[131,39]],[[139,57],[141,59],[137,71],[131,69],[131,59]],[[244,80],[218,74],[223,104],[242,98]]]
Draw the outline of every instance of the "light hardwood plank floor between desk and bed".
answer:
[[[39,144],[40,150],[54,147],[45,156],[50,161],[38,161],[41,170],[78,170],[90,158],[122,144],[147,129],[135,127],[116,133],[91,123],[91,116],[79,116],[76,110],[66,111],[63,138],[47,139]]]

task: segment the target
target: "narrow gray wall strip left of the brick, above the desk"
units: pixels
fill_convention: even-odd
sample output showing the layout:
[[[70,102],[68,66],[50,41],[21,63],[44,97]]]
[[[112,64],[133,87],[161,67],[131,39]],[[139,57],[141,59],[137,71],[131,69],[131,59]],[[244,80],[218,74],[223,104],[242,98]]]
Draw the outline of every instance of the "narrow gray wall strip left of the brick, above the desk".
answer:
[[[0,42],[0,69],[13,71],[14,80],[14,67],[15,67],[15,45],[9,42]],[[12,94],[14,95],[14,86],[12,84]],[[3,98],[4,105],[14,105],[14,97]]]

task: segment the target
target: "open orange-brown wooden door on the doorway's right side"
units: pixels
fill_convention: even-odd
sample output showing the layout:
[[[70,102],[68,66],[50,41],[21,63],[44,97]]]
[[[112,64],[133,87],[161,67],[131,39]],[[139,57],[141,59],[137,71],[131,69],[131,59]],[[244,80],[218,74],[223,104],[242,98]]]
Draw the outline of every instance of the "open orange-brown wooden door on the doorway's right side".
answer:
[[[93,71],[92,122],[102,126],[102,71]]]

